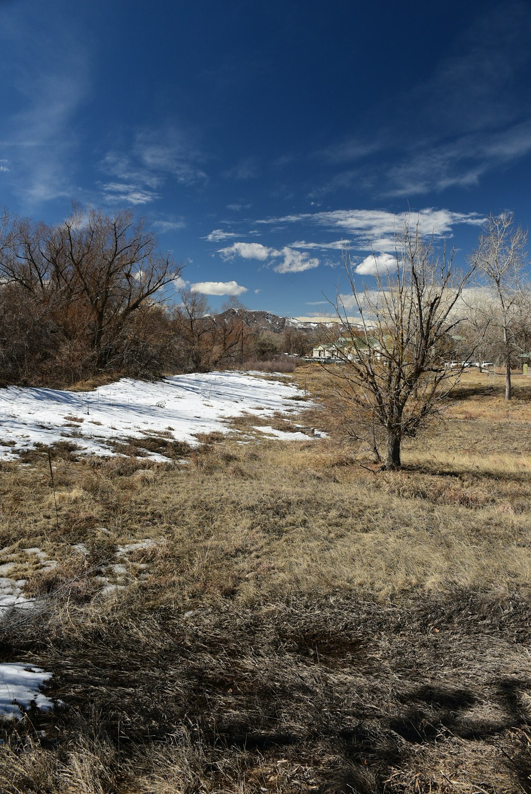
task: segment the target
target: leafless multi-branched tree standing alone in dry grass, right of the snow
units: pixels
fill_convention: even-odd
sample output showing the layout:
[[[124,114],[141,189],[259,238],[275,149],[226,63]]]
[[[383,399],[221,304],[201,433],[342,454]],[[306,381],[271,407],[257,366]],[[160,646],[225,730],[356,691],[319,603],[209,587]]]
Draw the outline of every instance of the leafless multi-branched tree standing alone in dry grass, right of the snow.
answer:
[[[471,265],[455,274],[453,252],[437,258],[433,241],[422,241],[418,224],[411,229],[408,221],[395,255],[389,269],[378,268],[375,256],[376,288],[360,289],[350,251],[343,249],[351,306],[346,298],[336,300],[343,337],[335,353],[342,363],[329,368],[343,403],[384,431],[387,469],[401,467],[402,438],[415,436],[440,411],[455,382],[444,359],[461,322],[459,297],[474,271]],[[351,307],[357,318],[349,314]]]

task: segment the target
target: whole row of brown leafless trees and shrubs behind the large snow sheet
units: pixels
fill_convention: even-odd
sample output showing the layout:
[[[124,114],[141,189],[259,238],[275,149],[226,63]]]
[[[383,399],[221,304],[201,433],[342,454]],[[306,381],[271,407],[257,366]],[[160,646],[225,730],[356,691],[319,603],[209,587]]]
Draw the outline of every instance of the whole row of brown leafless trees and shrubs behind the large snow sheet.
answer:
[[[130,212],[74,208],[48,225],[4,211],[0,223],[3,384],[157,377],[311,347],[304,334],[273,338],[237,314],[211,315],[203,295],[178,289],[183,266]]]

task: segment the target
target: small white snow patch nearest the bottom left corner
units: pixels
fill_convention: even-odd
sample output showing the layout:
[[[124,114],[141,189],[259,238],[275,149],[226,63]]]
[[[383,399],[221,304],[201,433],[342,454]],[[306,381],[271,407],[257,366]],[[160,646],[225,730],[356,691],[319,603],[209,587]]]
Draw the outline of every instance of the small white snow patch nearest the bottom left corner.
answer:
[[[52,673],[41,667],[17,662],[0,664],[0,716],[20,719],[22,709],[30,708],[32,703],[41,711],[50,711],[53,703],[40,689],[51,677]]]

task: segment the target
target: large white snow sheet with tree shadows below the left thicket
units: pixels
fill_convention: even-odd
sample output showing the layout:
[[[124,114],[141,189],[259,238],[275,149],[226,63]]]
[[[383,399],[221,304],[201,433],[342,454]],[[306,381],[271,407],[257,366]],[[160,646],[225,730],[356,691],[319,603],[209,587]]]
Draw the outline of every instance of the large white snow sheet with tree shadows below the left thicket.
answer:
[[[244,412],[263,417],[308,407],[297,399],[304,398],[302,391],[279,379],[207,372],[155,383],[124,378],[95,391],[0,389],[0,461],[56,441],[73,441],[79,453],[101,456],[114,454],[112,446],[122,438],[160,433],[197,445],[197,434],[227,432],[225,420]],[[152,452],[145,457],[167,460]]]

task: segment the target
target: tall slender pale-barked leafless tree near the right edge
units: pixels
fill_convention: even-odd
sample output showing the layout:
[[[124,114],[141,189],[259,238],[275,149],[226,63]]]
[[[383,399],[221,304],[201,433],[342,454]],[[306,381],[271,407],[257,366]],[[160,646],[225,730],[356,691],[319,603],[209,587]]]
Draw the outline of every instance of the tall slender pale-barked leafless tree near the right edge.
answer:
[[[498,327],[502,336],[502,360],[506,371],[506,400],[511,399],[511,358],[516,350],[515,326],[521,321],[520,306],[525,299],[522,272],[525,267],[527,233],[514,225],[512,213],[489,215],[471,256],[483,273],[498,305]],[[527,352],[527,351],[525,351]]]

